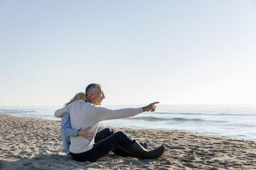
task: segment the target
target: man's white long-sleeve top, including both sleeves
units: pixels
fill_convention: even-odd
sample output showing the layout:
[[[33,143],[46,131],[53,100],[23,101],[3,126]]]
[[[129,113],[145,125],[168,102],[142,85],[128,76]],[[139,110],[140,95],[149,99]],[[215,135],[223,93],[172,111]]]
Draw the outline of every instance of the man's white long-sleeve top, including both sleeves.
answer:
[[[125,108],[120,110],[109,110],[95,106],[92,103],[85,103],[84,101],[76,101],[68,104],[64,108],[56,110],[54,117],[62,117],[64,113],[70,113],[70,123],[74,129],[86,129],[92,127],[90,131],[93,132],[93,138],[89,141],[81,136],[70,138],[70,152],[83,153],[93,148],[94,138],[97,133],[99,122],[102,120],[110,120],[116,118],[132,117],[142,113],[142,108]]]

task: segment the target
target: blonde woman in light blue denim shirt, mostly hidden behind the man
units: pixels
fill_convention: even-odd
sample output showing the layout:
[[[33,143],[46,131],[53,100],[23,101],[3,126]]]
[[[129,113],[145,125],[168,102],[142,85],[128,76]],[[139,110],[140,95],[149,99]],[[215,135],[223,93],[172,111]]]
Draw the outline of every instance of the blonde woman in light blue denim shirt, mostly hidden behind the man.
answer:
[[[84,101],[85,100],[85,93],[79,92],[77,93],[68,103],[65,103],[64,106],[68,106],[68,104],[73,103],[75,101]],[[65,148],[65,152],[67,155],[70,155],[69,146],[70,146],[70,137],[77,137],[83,136],[84,138],[91,140],[92,139],[92,132],[90,132],[91,127],[84,129],[83,131],[79,129],[73,129],[70,125],[70,115],[69,113],[65,113],[61,118],[61,138],[63,141],[63,146]],[[97,130],[97,134],[95,136],[95,143],[99,142],[100,140],[107,138],[111,134],[115,133],[116,129],[109,129],[104,127],[99,127]],[[147,149],[147,143],[140,143],[145,149]],[[123,148],[116,147],[112,152],[117,153],[122,156],[129,156],[130,154],[127,153]]]

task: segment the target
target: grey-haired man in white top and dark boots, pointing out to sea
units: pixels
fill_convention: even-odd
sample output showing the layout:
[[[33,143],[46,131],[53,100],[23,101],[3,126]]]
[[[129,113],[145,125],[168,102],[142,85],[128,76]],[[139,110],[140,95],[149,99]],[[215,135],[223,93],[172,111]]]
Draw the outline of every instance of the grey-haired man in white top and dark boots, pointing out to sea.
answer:
[[[143,111],[155,111],[158,102],[148,104],[143,108],[125,108],[121,110],[109,110],[108,108],[99,107],[102,100],[105,99],[101,85],[92,83],[86,87],[85,101],[76,101],[68,104],[64,108],[54,113],[55,117],[62,117],[66,112],[70,113],[71,126],[75,129],[85,129],[92,127],[93,138],[89,141],[83,137],[70,138],[70,152],[72,159],[77,161],[95,162],[100,157],[108,154],[116,146],[124,148],[134,157],[141,159],[153,159],[161,157],[164,153],[164,146],[160,146],[156,150],[147,151],[137,141],[129,138],[124,132],[116,132],[108,138],[102,139],[95,143],[94,138],[97,132],[99,122],[102,120],[132,117]]]

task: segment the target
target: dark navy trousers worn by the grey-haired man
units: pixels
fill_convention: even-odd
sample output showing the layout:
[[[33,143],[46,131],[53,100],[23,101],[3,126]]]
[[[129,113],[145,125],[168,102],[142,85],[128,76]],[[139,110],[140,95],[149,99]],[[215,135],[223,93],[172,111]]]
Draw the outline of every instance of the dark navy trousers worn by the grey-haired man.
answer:
[[[77,154],[71,153],[72,159],[77,160],[79,162],[95,162],[96,160],[100,159],[101,157],[104,157],[113,149],[115,149],[116,145],[120,145],[123,148],[128,149],[131,148],[131,146],[135,142],[135,140],[132,140],[124,132],[121,131],[115,132],[114,134],[110,134],[108,137],[106,137],[106,134],[108,134],[106,133],[106,131],[108,130],[104,130],[102,130],[103,132],[100,131],[101,133],[98,132],[99,135],[98,133],[96,134],[97,138],[95,136],[95,144],[93,145],[93,148],[91,150]]]

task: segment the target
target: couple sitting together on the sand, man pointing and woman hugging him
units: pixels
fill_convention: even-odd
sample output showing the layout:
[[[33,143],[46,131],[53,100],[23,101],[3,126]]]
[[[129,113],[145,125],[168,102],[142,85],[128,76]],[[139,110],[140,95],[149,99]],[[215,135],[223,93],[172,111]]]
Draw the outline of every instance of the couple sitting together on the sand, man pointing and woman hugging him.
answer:
[[[65,152],[71,154],[72,159],[79,162],[95,162],[111,151],[140,159],[161,157],[164,153],[164,146],[148,151],[147,144],[144,148],[124,132],[116,132],[115,129],[109,128],[98,131],[99,122],[102,120],[132,117],[144,111],[155,111],[155,104],[158,102],[142,108],[109,110],[98,106],[104,98],[101,86],[92,83],[86,87],[85,99],[83,99],[83,93],[82,97],[77,94],[65,104],[64,108],[55,111],[55,117],[62,117],[61,137]],[[89,129],[92,132],[89,132]]]

